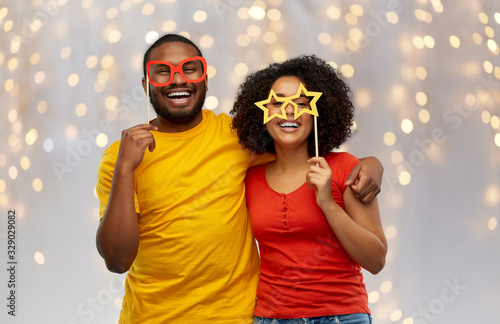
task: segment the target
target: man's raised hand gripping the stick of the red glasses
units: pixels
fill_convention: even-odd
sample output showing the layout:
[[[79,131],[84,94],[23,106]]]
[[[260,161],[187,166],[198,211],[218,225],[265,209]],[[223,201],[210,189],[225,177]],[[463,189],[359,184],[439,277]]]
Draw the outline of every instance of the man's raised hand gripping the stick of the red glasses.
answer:
[[[124,130],[120,141],[117,165],[132,171],[135,170],[141,164],[146,148],[153,152],[156,147],[155,138],[150,132],[152,130],[158,130],[158,127],[141,124]]]

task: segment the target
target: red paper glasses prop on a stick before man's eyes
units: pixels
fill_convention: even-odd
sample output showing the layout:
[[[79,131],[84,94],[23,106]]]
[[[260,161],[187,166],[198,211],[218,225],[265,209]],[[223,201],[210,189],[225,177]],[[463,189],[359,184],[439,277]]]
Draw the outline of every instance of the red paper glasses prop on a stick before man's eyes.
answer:
[[[188,83],[200,82],[207,76],[207,61],[201,56],[190,57],[174,66],[170,62],[153,60],[146,65],[147,110],[149,124],[149,83],[155,87],[169,85],[174,80],[175,73]]]

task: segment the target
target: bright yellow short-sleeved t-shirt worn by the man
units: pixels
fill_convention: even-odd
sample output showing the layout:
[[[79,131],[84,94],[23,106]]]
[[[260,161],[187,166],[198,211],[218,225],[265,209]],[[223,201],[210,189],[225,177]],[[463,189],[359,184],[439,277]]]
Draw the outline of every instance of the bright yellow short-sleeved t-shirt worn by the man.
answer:
[[[152,132],[156,149],[134,172],[140,243],[120,323],[252,323],[259,257],[244,179],[269,157],[253,159],[230,123],[204,110],[189,131]],[[118,149],[119,141],[99,166],[101,217]]]

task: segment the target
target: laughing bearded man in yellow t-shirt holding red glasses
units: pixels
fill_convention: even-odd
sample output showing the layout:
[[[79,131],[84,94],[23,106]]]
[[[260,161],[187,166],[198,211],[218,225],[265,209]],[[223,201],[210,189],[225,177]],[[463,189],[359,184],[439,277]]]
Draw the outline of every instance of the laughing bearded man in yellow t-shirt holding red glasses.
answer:
[[[252,323],[259,258],[244,179],[270,157],[243,150],[230,117],[202,110],[201,56],[179,35],[148,49],[142,82],[156,85],[157,118],[124,130],[99,167],[97,249],[110,271],[128,271],[120,323]],[[382,167],[363,163],[352,188],[369,200]]]

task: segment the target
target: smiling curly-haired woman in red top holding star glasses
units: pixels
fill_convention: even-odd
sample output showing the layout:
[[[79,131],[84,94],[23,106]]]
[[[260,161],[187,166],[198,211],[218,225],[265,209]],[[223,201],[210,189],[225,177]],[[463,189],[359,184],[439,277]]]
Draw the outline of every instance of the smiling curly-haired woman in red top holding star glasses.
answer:
[[[349,138],[353,110],[346,83],[315,56],[272,64],[239,88],[231,113],[240,143],[276,153],[246,178],[261,253],[254,323],[371,323],[360,267],[376,274],[385,264],[378,202],[344,185],[359,160],[331,152]]]

